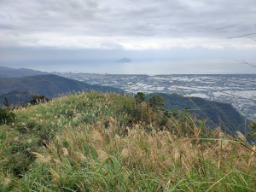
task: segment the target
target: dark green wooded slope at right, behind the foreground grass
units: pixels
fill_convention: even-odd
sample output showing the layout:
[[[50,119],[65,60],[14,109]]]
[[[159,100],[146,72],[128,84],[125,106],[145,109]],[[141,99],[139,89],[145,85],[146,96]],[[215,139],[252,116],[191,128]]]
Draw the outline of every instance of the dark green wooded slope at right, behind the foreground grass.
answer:
[[[150,94],[149,96],[153,96]],[[222,130],[230,134],[236,134],[236,131],[241,131],[245,134],[245,117],[236,111],[229,103],[212,102],[200,97],[190,97],[194,103],[185,96],[177,94],[158,93],[157,95],[164,98],[166,109],[183,109],[189,107],[190,113],[196,113],[198,119],[208,119],[208,122],[214,127],[221,125]],[[203,112],[203,113],[202,113]],[[207,116],[206,116],[207,115]],[[247,119],[247,131],[250,130],[249,124],[252,123]]]

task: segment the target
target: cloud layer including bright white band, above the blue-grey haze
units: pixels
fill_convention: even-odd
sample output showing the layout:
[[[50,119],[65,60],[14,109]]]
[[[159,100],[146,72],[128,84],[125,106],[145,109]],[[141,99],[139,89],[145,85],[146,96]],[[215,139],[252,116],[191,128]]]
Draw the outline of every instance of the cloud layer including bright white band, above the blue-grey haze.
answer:
[[[255,49],[252,0],[1,0],[0,46]],[[253,36],[251,36],[253,37]]]

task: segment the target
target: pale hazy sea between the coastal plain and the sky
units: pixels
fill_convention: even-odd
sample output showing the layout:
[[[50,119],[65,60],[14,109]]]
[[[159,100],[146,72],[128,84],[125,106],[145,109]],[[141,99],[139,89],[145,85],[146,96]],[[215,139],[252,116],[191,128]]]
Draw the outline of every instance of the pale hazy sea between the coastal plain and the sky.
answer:
[[[79,61],[57,63],[22,63],[6,67],[30,68],[44,72],[109,74],[236,74],[256,73],[256,67],[238,61]]]

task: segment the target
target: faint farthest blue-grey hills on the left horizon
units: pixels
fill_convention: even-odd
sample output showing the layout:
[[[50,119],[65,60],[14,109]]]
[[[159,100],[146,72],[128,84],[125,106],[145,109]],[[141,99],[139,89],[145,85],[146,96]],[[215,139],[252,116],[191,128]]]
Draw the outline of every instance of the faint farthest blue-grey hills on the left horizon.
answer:
[[[33,76],[33,75],[43,75],[49,74],[47,72],[40,72],[35,71],[32,69],[26,68],[9,68],[9,67],[0,67],[0,78],[22,78],[26,76]]]

